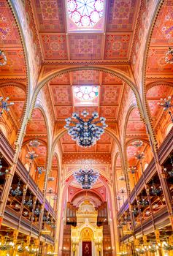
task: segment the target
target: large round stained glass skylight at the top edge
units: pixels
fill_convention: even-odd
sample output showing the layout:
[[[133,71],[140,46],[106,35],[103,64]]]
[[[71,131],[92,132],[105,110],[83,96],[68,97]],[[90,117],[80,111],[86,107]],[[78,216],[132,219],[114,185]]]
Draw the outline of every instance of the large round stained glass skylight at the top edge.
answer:
[[[105,0],[67,0],[69,18],[82,29],[91,29],[103,17]]]

